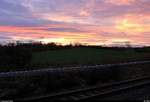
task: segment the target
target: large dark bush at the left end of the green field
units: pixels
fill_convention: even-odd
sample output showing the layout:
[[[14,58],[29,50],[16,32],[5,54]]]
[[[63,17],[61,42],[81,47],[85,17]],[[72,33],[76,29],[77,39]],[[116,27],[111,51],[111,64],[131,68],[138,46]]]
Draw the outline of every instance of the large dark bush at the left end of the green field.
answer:
[[[31,61],[30,49],[17,46],[7,46],[0,49],[1,70],[12,70],[12,68],[24,67]],[[2,69],[5,68],[5,69]],[[7,69],[6,69],[7,68]]]

